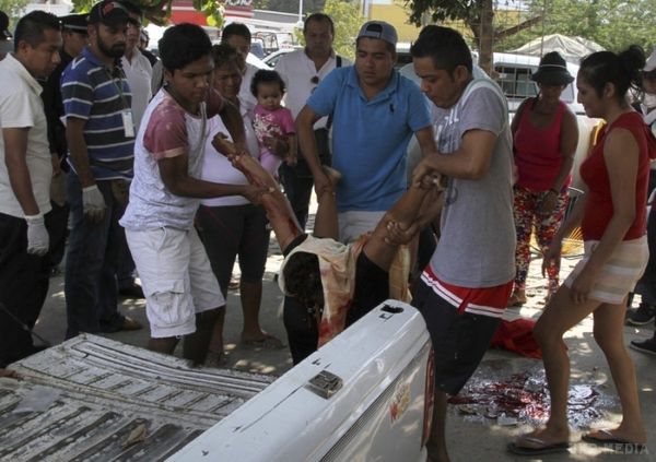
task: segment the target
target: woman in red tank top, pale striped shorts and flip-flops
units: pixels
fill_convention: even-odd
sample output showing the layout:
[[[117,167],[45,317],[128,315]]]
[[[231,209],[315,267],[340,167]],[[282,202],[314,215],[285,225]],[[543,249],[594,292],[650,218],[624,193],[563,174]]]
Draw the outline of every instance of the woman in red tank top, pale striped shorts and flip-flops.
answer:
[[[626,295],[644,271],[648,256],[645,203],[656,140],[626,98],[630,88],[639,87],[644,66],[645,56],[637,46],[619,55],[596,52],[581,63],[578,100],[589,117],[602,118],[607,125],[581,166],[585,192],[554,236],[542,269],[560,259],[563,237],[578,224],[585,254],[534,330],[549,383],[549,419],[544,428],[512,442],[508,448],[513,452],[566,451],[570,359],[563,335],[590,313],[595,341],[606,355],[618,391],[622,419],[617,428],[594,430],[583,440],[601,446],[620,443],[624,453],[646,450],[635,369],[623,339]]]

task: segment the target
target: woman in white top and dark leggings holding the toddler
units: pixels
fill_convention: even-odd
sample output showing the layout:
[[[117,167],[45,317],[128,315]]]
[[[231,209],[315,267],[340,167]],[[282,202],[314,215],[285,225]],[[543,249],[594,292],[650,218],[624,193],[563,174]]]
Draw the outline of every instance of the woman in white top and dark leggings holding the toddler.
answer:
[[[248,151],[257,158],[259,147],[251,123],[253,107],[243,104],[238,97],[242,74],[237,67],[237,51],[227,44],[221,44],[213,47],[212,56],[215,66],[214,88],[239,108],[244,118]],[[209,120],[208,130],[210,135],[207,138],[202,179],[227,185],[247,185],[246,177],[233,168],[231,163],[223,155],[216,153],[211,145],[211,140],[216,133],[221,132],[227,135],[227,130],[221,119],[214,117]],[[284,152],[289,150],[289,146],[280,140],[270,140],[270,149]],[[239,293],[244,312],[242,342],[265,347],[282,347],[280,340],[265,332],[259,324],[262,276],[270,237],[265,210],[248,202],[242,196],[208,199],[202,201],[198,211],[197,224],[212,264],[212,271],[219,280],[224,296],[227,294],[236,256],[239,256],[242,272]],[[219,360],[223,356],[224,316],[225,307],[222,307],[210,345],[210,352],[216,354]]]

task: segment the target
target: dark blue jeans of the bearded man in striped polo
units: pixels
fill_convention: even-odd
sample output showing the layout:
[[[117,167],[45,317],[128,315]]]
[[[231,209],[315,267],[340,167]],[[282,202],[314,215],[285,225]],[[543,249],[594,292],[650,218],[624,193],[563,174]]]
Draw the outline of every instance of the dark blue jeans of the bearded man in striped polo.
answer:
[[[112,193],[112,181],[97,181],[105,198],[105,215],[99,223],[84,216],[82,187],[72,171],[68,176],[67,199],[72,229],[66,257],[66,337],[80,332],[115,332],[124,316],[117,309],[116,270],[119,261],[118,220],[122,208]]]

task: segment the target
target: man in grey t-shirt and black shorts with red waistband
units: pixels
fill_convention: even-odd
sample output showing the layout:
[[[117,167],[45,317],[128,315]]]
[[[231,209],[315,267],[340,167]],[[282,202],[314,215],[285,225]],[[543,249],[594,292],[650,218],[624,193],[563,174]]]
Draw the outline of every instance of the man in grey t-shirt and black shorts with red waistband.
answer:
[[[512,139],[507,103],[489,79],[475,79],[456,31],[427,26],[411,48],[431,99],[437,152],[414,169],[447,178],[441,238],[413,291],[435,352],[432,460],[448,458],[446,398],[478,367],[506,307],[515,276]]]

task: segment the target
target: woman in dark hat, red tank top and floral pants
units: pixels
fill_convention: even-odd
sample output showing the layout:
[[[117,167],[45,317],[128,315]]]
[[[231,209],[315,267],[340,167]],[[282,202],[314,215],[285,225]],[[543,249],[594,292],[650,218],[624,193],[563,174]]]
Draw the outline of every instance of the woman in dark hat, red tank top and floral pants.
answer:
[[[508,300],[511,307],[526,303],[534,227],[538,246],[543,251],[563,220],[578,143],[576,117],[560,100],[563,90],[574,80],[567,72],[565,60],[555,51],[544,55],[531,79],[538,83],[540,94],[522,103],[511,125],[517,167],[514,187],[516,273]],[[559,272],[559,264],[547,269],[547,298],[558,289]]]

